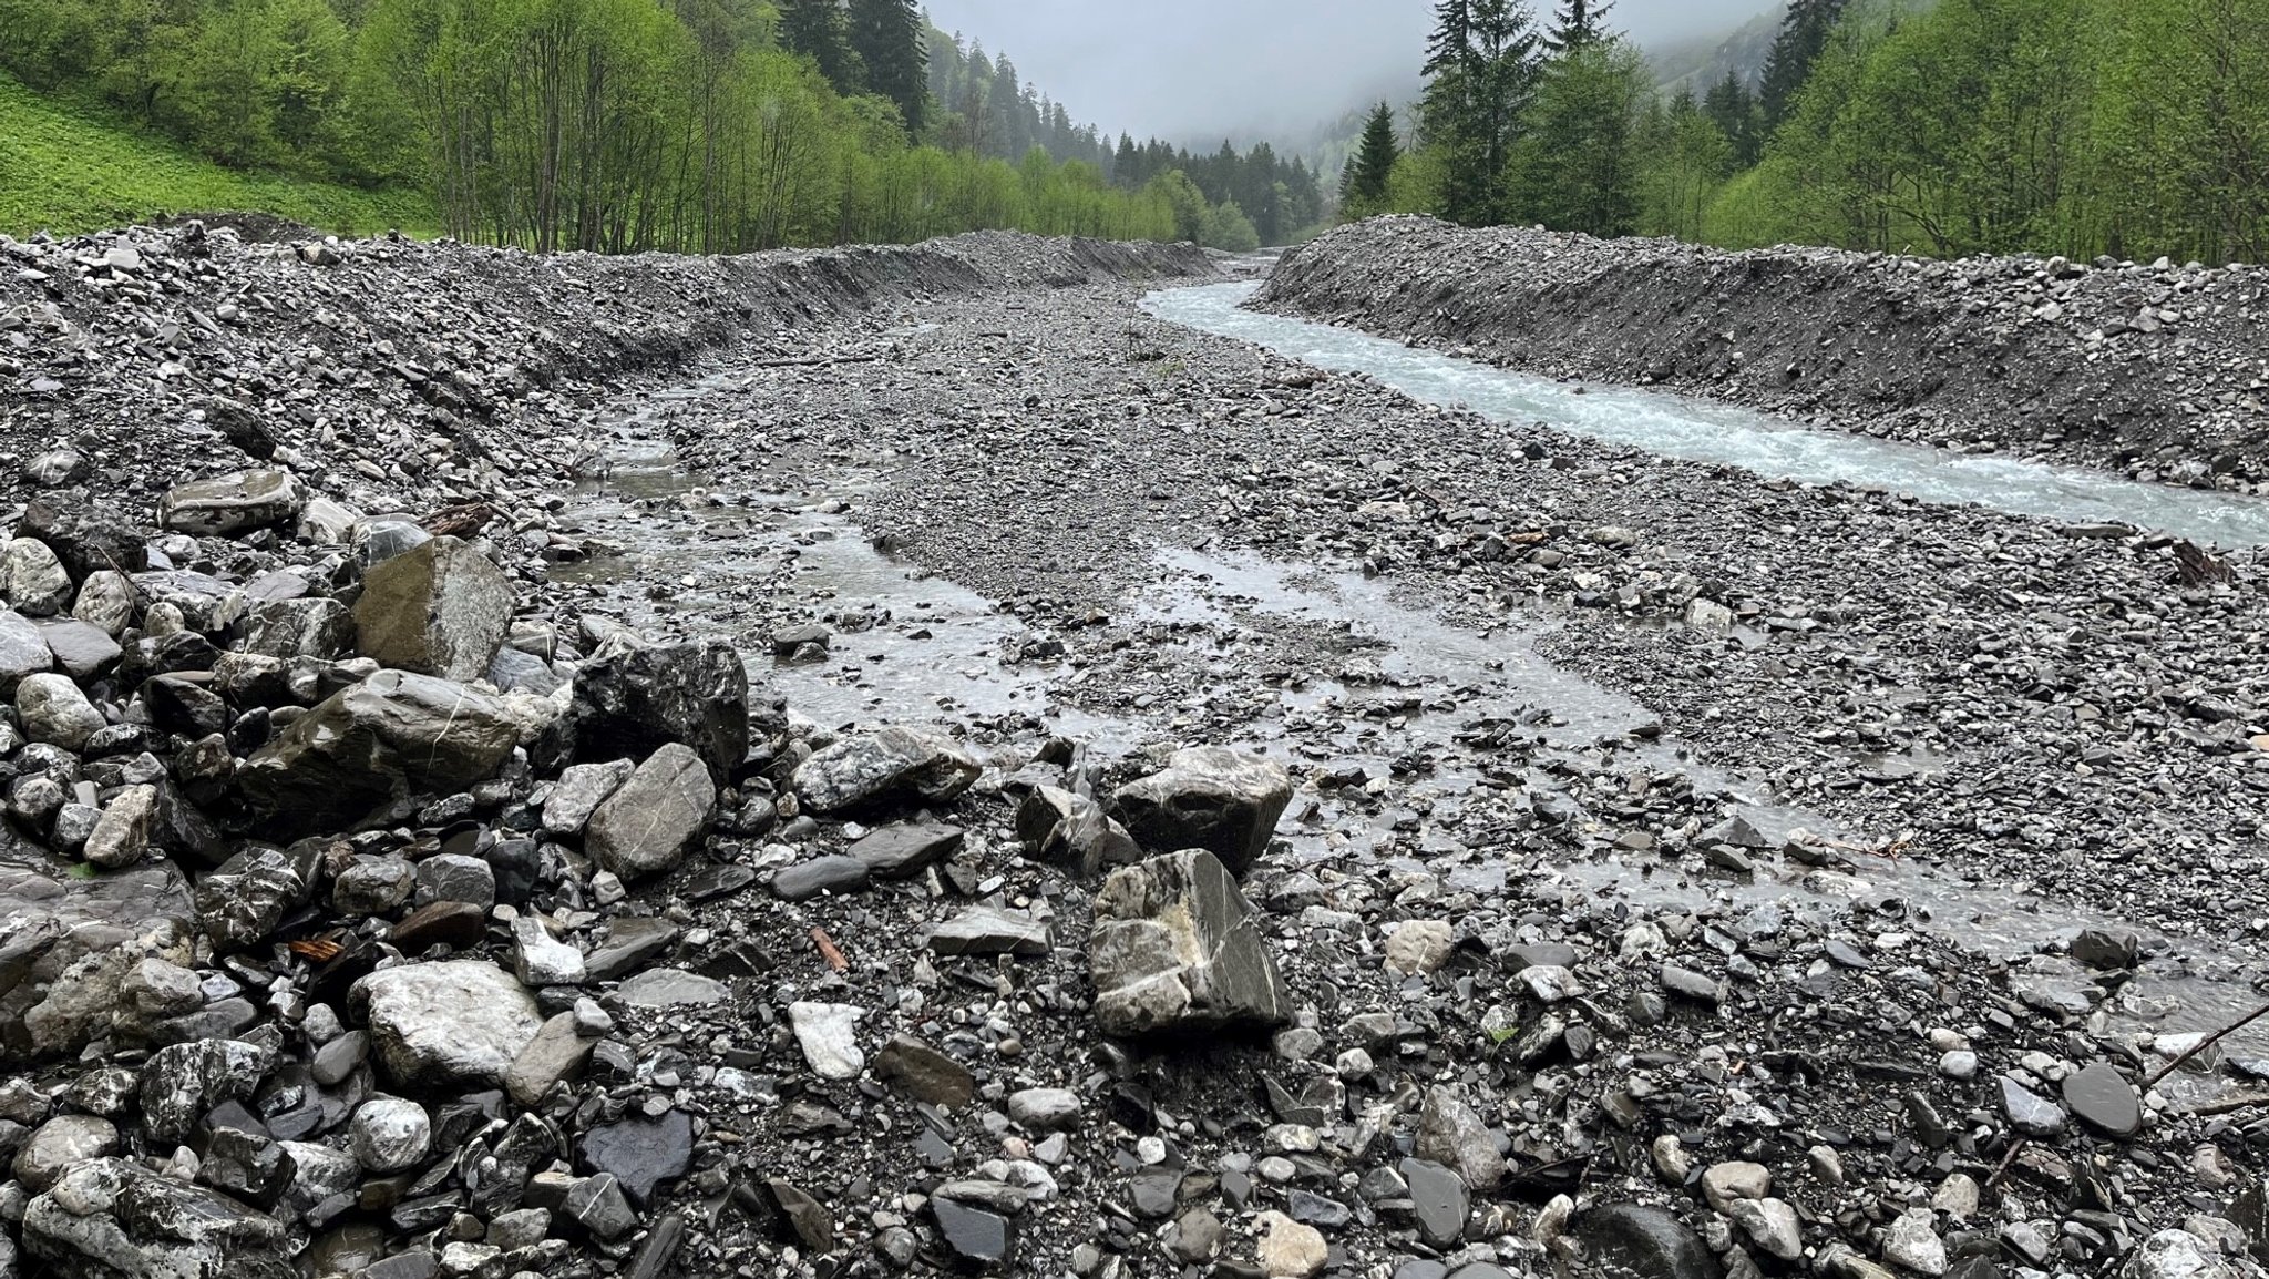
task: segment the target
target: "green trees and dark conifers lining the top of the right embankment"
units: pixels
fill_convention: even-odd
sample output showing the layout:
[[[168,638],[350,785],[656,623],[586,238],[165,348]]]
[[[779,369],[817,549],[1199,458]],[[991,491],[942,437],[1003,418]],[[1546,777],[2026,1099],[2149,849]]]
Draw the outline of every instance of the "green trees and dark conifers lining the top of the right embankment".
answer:
[[[1795,0],[1761,75],[1668,98],[1604,9],[1441,0],[1341,216],[2269,259],[2269,0]]]

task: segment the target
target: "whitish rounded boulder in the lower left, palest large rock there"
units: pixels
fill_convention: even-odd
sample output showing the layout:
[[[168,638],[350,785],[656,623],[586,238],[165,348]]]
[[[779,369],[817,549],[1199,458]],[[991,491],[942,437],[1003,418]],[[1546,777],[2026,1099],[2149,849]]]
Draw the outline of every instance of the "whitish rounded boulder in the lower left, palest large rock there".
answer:
[[[379,1061],[404,1088],[495,1088],[545,1025],[526,988],[486,959],[381,968],[349,1004],[363,1006]]]

